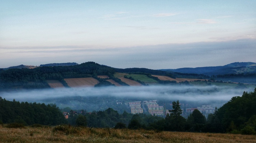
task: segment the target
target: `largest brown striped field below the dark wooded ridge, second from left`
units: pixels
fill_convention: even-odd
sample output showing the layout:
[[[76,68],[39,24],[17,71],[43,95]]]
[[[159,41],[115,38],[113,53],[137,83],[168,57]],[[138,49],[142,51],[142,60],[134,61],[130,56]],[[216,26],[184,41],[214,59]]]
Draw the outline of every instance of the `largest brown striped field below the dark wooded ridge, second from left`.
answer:
[[[99,83],[99,81],[93,77],[85,78],[65,78],[64,79],[69,87],[88,87],[94,86]]]

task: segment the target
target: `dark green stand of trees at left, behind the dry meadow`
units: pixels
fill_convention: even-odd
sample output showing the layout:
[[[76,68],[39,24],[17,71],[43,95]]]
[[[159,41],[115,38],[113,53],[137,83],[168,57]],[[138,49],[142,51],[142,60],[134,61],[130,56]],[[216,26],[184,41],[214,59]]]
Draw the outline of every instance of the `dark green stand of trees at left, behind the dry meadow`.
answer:
[[[7,101],[0,97],[0,121],[2,123],[20,123],[25,125],[66,124],[60,109],[56,105]]]

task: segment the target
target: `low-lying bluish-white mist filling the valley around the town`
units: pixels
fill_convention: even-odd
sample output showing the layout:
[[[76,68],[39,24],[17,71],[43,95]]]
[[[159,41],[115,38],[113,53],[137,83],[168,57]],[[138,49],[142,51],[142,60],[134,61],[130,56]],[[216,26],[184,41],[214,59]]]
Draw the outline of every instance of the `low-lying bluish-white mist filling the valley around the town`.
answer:
[[[20,92],[1,92],[6,100],[19,102],[53,103],[59,108],[105,110],[115,107],[116,102],[123,104],[131,101],[158,100],[159,106],[169,105],[172,101],[196,108],[201,105],[221,107],[233,96],[242,96],[244,91],[253,88],[232,88],[228,86],[122,86],[122,87],[84,87],[57,88],[44,90],[23,90]]]

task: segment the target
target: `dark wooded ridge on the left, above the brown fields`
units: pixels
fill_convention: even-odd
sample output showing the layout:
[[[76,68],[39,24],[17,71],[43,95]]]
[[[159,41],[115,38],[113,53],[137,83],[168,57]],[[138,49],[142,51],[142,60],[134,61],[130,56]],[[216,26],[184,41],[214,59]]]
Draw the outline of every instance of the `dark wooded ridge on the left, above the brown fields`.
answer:
[[[9,88],[49,88],[46,80],[64,78],[91,77],[94,75],[110,75],[115,70],[95,62],[85,62],[74,66],[38,67],[34,69],[8,69],[0,71],[0,90]]]

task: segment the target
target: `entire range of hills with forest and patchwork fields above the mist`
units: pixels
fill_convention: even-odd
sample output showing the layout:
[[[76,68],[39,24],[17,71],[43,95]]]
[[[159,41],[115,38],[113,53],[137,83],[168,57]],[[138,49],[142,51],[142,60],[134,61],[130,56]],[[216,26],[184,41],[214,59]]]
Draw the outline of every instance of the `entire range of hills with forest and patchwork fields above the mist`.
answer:
[[[70,64],[72,66],[68,66]],[[176,69],[176,71],[180,72],[190,72],[180,73],[175,70],[152,70],[146,68],[117,69],[91,61],[80,65],[76,63],[55,63],[48,64],[48,66],[43,65],[42,67],[20,65],[9,69],[0,69],[0,91],[80,86],[176,84],[208,81],[209,79],[212,81],[255,84],[255,67],[256,63],[253,62],[234,62],[217,67]],[[230,74],[212,75],[211,77],[204,75],[210,73]]]

